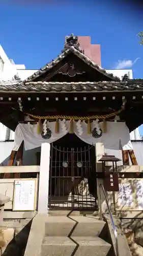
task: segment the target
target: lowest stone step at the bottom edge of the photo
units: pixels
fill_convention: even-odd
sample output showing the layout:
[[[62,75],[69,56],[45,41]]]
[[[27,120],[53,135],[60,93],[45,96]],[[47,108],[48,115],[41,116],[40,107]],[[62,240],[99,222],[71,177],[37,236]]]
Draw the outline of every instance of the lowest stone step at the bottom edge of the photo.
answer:
[[[41,256],[106,256],[111,245],[98,237],[45,237]]]

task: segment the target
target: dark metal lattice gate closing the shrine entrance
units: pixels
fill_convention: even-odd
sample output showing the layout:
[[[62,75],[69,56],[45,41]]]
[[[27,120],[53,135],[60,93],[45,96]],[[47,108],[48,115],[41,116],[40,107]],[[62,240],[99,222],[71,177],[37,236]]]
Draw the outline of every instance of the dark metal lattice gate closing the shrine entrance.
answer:
[[[97,210],[95,147],[51,145],[49,208]]]

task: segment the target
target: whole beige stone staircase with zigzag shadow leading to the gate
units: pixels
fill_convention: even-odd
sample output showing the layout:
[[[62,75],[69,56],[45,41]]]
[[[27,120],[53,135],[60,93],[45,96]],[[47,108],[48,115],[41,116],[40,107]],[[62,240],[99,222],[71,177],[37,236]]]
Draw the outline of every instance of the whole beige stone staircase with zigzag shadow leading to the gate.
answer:
[[[105,224],[99,217],[49,216],[45,223],[41,256],[111,255],[111,245],[101,238]]]

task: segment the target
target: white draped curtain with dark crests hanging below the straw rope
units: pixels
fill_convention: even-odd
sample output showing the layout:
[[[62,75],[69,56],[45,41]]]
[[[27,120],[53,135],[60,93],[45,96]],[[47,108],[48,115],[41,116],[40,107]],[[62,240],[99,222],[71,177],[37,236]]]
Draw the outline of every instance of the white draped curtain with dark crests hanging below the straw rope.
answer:
[[[25,150],[31,150],[41,146],[42,143],[52,143],[65,136],[70,130],[70,121],[59,120],[59,132],[55,133],[55,122],[46,122],[45,129],[51,131],[49,139],[43,138],[38,131],[38,124],[22,124],[19,123],[15,130],[15,141],[13,150],[17,151],[21,142],[24,141]],[[88,134],[88,124],[85,121],[73,121],[73,131],[78,138],[85,143],[95,145],[97,142],[104,144],[106,149],[110,150],[132,150],[130,141],[129,129],[125,122],[106,122],[106,133],[102,132],[102,122],[98,121],[91,123],[91,131],[93,134]],[[46,130],[45,130],[46,134]],[[96,138],[95,138],[96,137]]]

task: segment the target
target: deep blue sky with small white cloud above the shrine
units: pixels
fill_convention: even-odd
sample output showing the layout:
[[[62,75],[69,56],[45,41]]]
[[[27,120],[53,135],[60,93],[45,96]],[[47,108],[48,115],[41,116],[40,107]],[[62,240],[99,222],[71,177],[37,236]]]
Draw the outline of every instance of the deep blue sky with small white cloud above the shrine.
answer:
[[[65,36],[74,33],[89,35],[92,44],[101,45],[103,68],[132,69],[134,78],[143,78],[143,46],[136,36],[143,30],[142,8],[131,1],[47,1],[0,4],[0,44],[16,64],[43,67],[60,54]]]

